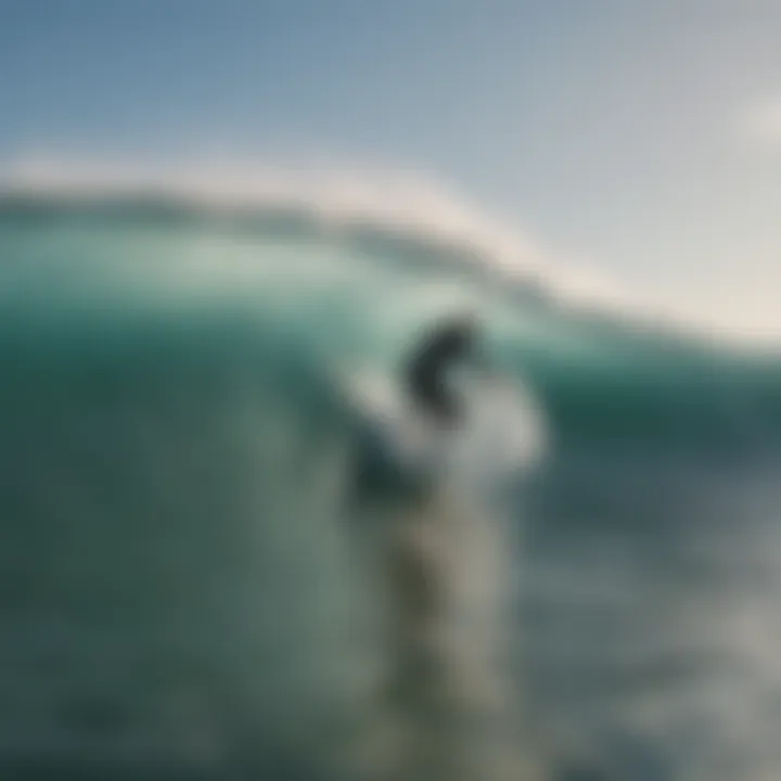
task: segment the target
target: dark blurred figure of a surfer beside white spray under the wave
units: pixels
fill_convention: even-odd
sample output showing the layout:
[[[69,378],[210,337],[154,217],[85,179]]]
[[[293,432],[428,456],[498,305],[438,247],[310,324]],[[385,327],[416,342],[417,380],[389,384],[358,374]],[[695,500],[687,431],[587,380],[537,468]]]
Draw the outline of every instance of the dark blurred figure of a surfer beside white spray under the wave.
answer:
[[[448,370],[474,360],[476,327],[450,321],[428,334],[407,362],[405,380],[413,401],[439,423],[452,426],[462,418],[462,402],[447,386]]]

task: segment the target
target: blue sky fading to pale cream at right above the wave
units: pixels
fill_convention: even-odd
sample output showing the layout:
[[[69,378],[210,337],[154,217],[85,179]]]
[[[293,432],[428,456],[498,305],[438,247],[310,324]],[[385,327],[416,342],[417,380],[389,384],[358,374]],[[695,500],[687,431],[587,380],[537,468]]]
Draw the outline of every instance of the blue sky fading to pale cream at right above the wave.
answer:
[[[0,166],[312,155],[452,185],[781,340],[777,0],[0,0]]]

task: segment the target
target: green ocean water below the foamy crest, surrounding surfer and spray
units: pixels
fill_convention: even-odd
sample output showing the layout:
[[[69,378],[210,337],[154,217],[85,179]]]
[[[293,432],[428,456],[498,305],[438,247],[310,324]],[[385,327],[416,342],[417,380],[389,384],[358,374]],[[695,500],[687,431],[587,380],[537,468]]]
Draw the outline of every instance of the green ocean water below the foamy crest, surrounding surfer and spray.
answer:
[[[1,778],[457,778],[411,744],[481,781],[779,778],[781,361],[490,260],[302,203],[2,199]],[[463,306],[545,436],[421,505],[342,381]],[[475,598],[397,706],[381,569],[420,529],[458,555],[412,602]],[[492,681],[445,727],[443,670]]]

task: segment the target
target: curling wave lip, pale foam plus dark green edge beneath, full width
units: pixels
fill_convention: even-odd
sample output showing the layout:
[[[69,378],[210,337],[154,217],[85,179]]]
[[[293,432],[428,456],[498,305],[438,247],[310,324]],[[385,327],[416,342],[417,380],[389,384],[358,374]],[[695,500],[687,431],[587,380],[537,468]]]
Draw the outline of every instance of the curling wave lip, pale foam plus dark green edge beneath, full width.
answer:
[[[350,167],[123,165],[20,159],[0,169],[0,222],[53,217],[192,222],[311,242],[475,283],[490,296],[586,328],[617,327],[774,358],[771,330],[734,328],[630,294],[424,176]]]

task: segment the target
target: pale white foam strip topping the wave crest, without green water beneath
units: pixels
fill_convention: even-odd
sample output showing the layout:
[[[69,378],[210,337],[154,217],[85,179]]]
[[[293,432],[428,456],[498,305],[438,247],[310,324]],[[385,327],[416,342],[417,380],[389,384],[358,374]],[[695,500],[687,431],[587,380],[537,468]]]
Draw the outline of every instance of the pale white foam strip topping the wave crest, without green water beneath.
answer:
[[[726,323],[722,312],[693,316],[651,302],[586,264],[554,258],[523,231],[509,228],[431,176],[388,167],[308,163],[280,165],[190,159],[119,162],[33,155],[0,163],[0,194],[68,200],[153,194],[208,209],[294,208],[338,234],[373,227],[433,248],[452,247],[499,285],[530,285],[565,309],[617,318],[742,348],[777,343],[777,331]]]

